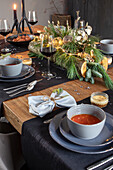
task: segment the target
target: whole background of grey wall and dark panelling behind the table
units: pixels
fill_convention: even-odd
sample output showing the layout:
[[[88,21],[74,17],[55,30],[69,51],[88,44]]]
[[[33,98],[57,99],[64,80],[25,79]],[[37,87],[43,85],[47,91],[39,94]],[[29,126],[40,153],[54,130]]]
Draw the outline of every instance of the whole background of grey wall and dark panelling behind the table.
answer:
[[[18,19],[21,19],[21,0],[0,0],[0,18],[13,24],[13,4],[17,4]],[[93,27],[93,34],[101,38],[113,37],[113,0],[25,0],[26,15],[29,10],[38,13],[39,25],[47,25],[53,14],[71,15],[72,27],[76,11],[81,19]]]

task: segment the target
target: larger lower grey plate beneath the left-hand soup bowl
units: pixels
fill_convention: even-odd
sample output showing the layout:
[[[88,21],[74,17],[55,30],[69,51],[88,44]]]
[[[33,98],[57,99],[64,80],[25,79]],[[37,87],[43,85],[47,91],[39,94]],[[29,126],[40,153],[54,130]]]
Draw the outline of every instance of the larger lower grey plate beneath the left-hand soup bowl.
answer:
[[[35,74],[35,69],[33,67],[28,66],[28,69],[29,69],[29,73],[27,75],[24,75],[24,76],[19,77],[19,78],[10,78],[10,79],[0,78],[0,82],[15,82],[15,81],[26,80],[26,79],[32,77]]]

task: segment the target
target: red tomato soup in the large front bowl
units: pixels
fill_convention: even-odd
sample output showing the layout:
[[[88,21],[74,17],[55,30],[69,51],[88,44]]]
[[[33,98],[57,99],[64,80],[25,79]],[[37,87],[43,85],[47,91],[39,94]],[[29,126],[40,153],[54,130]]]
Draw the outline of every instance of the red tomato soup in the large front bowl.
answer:
[[[97,117],[89,114],[75,115],[71,118],[71,120],[83,125],[93,125],[100,122],[100,120]]]

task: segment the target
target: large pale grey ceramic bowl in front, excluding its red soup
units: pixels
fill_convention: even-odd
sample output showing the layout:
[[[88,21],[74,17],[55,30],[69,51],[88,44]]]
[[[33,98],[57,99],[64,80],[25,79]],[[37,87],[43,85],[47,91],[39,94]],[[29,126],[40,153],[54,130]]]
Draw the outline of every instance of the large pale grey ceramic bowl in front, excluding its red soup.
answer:
[[[71,118],[78,114],[90,114],[96,116],[101,122],[93,125],[84,125],[72,121]],[[90,104],[76,105],[67,111],[67,122],[70,131],[73,135],[82,139],[93,139],[97,137],[104,127],[105,120],[105,112],[101,108]]]

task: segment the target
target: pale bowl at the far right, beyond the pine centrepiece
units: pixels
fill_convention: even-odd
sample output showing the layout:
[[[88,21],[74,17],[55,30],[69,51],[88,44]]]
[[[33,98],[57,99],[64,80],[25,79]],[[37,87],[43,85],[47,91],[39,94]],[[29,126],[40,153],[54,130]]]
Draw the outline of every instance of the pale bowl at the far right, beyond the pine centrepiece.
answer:
[[[106,54],[113,54],[113,39],[103,39],[100,41],[101,50]]]

